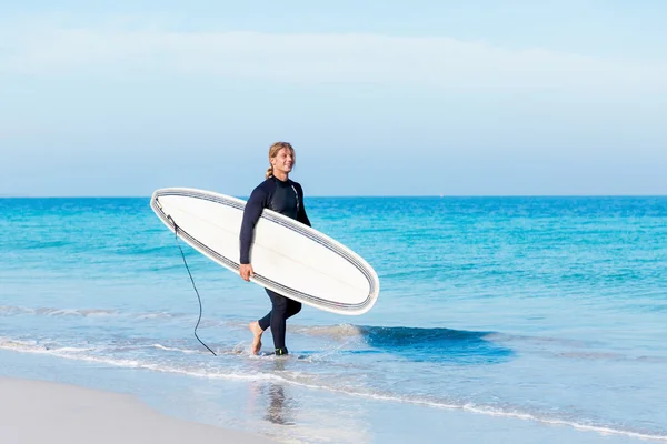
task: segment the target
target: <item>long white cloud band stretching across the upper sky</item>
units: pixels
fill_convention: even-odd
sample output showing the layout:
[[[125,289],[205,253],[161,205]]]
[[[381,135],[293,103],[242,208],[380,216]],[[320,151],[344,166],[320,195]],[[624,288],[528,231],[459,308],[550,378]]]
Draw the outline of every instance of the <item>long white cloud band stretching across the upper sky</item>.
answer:
[[[516,50],[449,38],[3,27],[0,72],[148,72],[437,88],[666,91],[667,64]]]

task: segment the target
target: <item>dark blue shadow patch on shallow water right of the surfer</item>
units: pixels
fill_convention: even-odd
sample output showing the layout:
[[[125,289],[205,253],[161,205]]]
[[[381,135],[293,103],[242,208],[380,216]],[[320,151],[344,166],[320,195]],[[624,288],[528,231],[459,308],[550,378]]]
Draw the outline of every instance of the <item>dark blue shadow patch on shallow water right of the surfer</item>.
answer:
[[[494,332],[404,326],[358,326],[370,349],[350,353],[389,353],[411,362],[461,365],[499,364],[515,352],[489,337]]]

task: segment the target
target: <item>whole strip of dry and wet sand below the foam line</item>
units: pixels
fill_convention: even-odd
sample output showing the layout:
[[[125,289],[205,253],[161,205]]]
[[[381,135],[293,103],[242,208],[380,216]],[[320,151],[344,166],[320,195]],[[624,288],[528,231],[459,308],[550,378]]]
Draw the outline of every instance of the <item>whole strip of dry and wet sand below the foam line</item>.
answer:
[[[439,443],[444,430],[452,442],[620,444],[666,438],[382,400],[360,404],[355,396],[270,380],[191,379],[18,351],[0,351],[0,375],[4,395],[0,434],[16,437],[10,442],[19,444],[180,444],[192,438],[203,444],[394,444],[409,441],[416,431],[421,431],[420,442]],[[38,398],[50,400],[50,406],[34,403]],[[68,400],[78,400],[78,404]],[[36,424],[41,432],[32,430]],[[108,433],[118,425],[123,426],[121,434],[116,430]],[[156,431],[161,433],[159,440]],[[98,438],[107,434],[108,441]]]

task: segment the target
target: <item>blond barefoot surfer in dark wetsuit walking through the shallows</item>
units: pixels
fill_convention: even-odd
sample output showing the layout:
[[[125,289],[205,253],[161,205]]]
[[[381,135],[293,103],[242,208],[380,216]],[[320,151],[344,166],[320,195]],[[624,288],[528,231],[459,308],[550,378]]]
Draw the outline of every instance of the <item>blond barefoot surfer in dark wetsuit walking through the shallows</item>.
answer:
[[[249,281],[250,276],[255,274],[250,263],[250,245],[255,225],[265,208],[310,226],[310,221],[303,208],[303,189],[298,182],[289,179],[289,173],[296,161],[296,153],[291,144],[287,142],[273,143],[269,148],[270,167],[265,175],[266,180],[252,190],[250,199],[246,203],[241,222],[239,261],[239,273],[246,281]],[[251,351],[253,354],[259,353],[261,335],[270,326],[276,354],[283,355],[288,353],[285,345],[286,321],[301,311],[301,303],[271,290],[266,289],[266,291],[272,306],[266,316],[249,324],[253,335]]]

